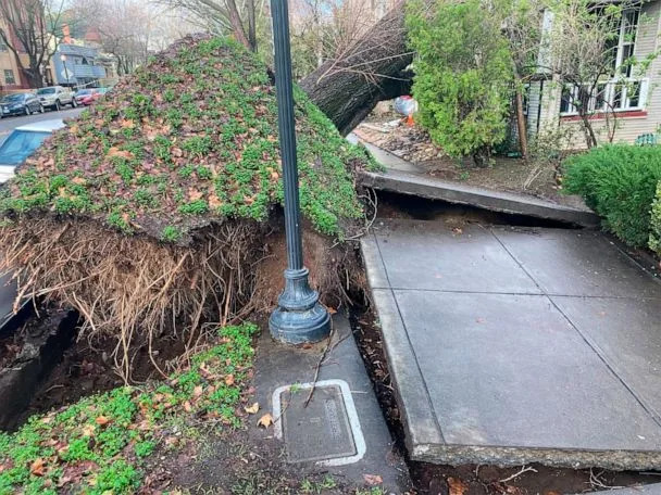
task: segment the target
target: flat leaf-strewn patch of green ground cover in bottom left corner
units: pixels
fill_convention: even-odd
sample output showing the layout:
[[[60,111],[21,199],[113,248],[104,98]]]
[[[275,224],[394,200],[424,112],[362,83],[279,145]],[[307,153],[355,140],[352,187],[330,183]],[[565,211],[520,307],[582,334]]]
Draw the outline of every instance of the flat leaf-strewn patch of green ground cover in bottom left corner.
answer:
[[[255,332],[251,323],[220,329],[219,345],[194,356],[191,368],[167,384],[115,389],[0,433],[0,495],[138,492],[147,459],[173,424],[199,418],[239,424],[234,410]]]

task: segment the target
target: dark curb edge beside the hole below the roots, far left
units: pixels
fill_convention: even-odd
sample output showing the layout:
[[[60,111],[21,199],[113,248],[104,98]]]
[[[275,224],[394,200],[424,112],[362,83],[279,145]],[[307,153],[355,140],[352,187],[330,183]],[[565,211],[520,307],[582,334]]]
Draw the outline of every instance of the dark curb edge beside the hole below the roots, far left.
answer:
[[[71,345],[79,315],[62,312],[47,318],[52,327],[27,335],[14,361],[0,370],[0,430],[12,430],[21,421],[39,383],[51,372]]]

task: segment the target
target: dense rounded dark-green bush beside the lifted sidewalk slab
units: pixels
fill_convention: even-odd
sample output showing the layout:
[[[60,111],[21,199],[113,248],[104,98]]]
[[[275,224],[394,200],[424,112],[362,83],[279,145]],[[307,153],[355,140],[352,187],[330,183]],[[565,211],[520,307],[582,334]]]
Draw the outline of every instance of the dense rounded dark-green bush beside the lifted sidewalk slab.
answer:
[[[581,194],[604,227],[633,246],[650,238],[650,212],[661,180],[661,148],[611,144],[564,162],[566,192]]]

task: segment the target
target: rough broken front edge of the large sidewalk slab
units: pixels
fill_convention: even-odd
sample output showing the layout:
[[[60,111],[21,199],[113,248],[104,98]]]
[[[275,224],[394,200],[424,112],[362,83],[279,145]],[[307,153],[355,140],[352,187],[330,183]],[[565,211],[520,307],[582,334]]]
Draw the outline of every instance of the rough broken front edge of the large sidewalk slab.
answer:
[[[422,462],[489,465],[498,467],[541,464],[556,468],[589,469],[599,466],[613,471],[644,471],[661,466],[661,452],[572,450],[560,448],[498,447],[483,445],[408,445],[412,460]]]

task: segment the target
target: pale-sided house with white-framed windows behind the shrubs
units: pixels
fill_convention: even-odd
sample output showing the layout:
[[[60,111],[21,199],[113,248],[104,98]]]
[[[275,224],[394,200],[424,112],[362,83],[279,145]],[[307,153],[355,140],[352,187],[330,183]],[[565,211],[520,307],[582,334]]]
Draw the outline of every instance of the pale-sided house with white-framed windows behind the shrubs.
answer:
[[[544,13],[542,33],[548,33],[553,15]],[[639,3],[624,11],[619,23],[619,35],[609,53],[613,71],[599,79],[595,91],[581,94],[581,88],[568,85],[552,69],[548,50],[540,48],[538,74],[529,82],[527,98],[528,135],[547,130],[568,130],[569,149],[586,147],[576,102],[587,102],[589,119],[599,142],[634,143],[644,135],[656,135],[661,125],[661,58],[657,56],[646,71],[629,66],[626,61],[656,53],[661,49],[661,0]]]

